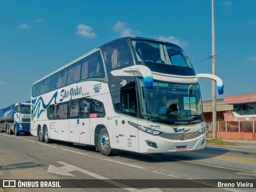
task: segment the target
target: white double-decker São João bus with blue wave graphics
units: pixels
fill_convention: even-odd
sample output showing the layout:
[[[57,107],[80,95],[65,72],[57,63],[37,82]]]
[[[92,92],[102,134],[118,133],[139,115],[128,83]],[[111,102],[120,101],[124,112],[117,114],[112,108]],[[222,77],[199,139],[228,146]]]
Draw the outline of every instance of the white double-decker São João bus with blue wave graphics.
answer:
[[[198,78],[175,44],[142,37],[106,43],[36,81],[31,133],[41,142],[167,153],[203,149],[206,128]]]

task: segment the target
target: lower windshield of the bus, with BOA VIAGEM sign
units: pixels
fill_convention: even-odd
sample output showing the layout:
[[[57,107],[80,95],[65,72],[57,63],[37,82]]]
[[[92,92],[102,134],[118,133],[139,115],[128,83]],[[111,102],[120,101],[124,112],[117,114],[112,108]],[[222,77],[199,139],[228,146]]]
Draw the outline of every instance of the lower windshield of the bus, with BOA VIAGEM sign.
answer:
[[[176,84],[154,80],[146,88],[140,78],[142,114],[153,121],[203,120],[199,84]]]

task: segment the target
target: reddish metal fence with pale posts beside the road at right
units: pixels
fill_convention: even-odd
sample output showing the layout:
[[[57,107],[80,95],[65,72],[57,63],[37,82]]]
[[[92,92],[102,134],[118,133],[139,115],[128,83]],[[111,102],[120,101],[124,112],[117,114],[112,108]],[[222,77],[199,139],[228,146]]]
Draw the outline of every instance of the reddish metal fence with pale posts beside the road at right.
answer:
[[[218,132],[256,133],[256,121],[217,121]]]

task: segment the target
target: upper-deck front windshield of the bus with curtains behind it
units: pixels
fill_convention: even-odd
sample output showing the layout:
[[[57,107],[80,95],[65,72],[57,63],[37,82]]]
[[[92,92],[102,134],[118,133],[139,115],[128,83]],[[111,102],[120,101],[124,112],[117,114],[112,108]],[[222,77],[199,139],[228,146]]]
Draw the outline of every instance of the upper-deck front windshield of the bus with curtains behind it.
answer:
[[[138,62],[160,63],[193,68],[186,53],[178,46],[161,41],[133,40],[134,55]],[[159,65],[159,64],[158,64]]]

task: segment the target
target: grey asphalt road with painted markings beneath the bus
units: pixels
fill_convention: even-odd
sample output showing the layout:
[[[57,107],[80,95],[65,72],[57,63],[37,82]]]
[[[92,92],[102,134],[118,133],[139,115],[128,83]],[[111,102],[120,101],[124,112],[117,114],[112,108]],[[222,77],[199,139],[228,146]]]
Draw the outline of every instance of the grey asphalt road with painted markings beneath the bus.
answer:
[[[40,143],[38,137],[32,135],[20,134],[16,137],[0,133],[0,179],[64,179],[67,182],[69,179],[97,179],[104,182],[108,180],[108,183],[120,187],[61,188],[51,191],[138,191],[136,187],[129,187],[128,182],[120,183],[118,179],[132,179],[133,182],[138,182],[138,179],[145,179],[145,182],[150,182],[146,179],[176,179],[177,182],[184,182],[184,186],[189,185],[190,179],[193,179],[193,182],[203,185],[201,188],[193,188],[192,191],[205,191],[205,188],[210,191],[254,191],[255,188],[216,189],[211,186],[214,179],[232,179],[234,182],[240,179],[247,182],[255,180],[256,148],[255,145],[207,146],[199,151],[160,154],[117,151],[114,156],[105,157],[96,152],[93,146],[77,146],[59,141],[46,144]],[[144,184],[143,181],[140,182]],[[146,186],[143,189],[191,191],[189,188],[164,188],[164,184],[159,184],[154,189],[148,188],[150,187]],[[45,188],[33,190],[46,191]],[[28,190],[0,188],[0,192],[2,191]]]

